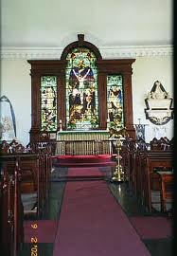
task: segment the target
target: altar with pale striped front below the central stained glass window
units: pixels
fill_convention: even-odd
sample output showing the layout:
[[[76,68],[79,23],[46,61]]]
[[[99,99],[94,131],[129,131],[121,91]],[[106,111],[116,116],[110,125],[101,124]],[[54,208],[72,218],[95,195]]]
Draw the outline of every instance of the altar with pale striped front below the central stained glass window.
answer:
[[[107,130],[59,131],[56,155],[111,155]]]

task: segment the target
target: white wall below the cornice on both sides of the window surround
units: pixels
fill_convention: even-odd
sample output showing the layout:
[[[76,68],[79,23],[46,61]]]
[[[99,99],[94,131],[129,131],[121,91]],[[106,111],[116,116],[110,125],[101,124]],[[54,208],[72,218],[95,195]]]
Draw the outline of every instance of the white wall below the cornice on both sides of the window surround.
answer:
[[[145,97],[153,82],[159,80],[172,96],[172,57],[138,57],[133,63],[133,122],[149,124],[146,127],[146,140],[154,137],[154,127],[145,117]],[[31,79],[30,64],[27,60],[1,61],[1,96],[6,95],[14,108],[17,138],[27,145],[31,127]],[[163,125],[168,138],[173,136],[173,121]],[[159,128],[159,127],[158,127]]]

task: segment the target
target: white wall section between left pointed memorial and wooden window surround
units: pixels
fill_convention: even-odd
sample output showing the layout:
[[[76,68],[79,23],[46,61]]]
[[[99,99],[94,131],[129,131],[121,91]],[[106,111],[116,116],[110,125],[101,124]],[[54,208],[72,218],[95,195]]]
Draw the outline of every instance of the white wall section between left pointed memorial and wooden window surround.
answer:
[[[30,64],[25,60],[1,61],[1,96],[11,101],[16,119],[17,138],[27,145],[31,126]]]

